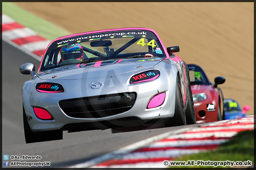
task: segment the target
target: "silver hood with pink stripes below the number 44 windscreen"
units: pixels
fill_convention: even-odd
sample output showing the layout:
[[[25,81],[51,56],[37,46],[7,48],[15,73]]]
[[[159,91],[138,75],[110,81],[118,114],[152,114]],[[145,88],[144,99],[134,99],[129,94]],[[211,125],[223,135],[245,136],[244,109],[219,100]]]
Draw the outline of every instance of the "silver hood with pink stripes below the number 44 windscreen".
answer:
[[[145,70],[155,66],[164,58],[129,58],[105,60],[86,64],[68,65],[39,72],[37,76],[42,80],[74,80],[111,76],[116,74]]]

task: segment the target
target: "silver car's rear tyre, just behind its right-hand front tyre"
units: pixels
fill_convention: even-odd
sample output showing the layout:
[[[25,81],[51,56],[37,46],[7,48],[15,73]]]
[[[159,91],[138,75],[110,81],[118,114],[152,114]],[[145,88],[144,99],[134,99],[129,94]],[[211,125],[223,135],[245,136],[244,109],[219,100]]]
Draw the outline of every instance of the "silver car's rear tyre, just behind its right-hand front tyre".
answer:
[[[188,94],[188,104],[186,109],[186,121],[187,121],[187,125],[192,125],[192,124],[196,124],[196,113],[194,111],[194,101],[193,101],[190,84],[188,89],[189,89],[188,90],[189,94]]]

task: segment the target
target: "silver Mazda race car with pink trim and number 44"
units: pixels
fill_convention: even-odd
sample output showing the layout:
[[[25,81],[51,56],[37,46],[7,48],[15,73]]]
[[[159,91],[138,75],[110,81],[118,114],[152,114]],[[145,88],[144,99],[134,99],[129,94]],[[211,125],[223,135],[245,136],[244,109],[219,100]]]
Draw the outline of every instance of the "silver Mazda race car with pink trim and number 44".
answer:
[[[26,143],[63,131],[195,124],[187,64],[147,28],[79,33],[50,42],[38,72],[20,72]]]

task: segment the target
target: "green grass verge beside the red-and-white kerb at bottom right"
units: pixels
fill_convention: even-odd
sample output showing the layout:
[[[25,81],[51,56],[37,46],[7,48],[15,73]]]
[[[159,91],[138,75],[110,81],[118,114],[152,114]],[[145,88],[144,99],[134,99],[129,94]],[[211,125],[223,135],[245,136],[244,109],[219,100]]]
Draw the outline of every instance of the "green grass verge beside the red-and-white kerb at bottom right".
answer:
[[[188,161],[202,160],[204,162],[210,161],[241,161],[248,160],[254,164],[254,130],[242,131],[233,136],[229,141],[220,145],[214,151],[207,151],[198,154],[183,155],[175,158],[173,161]],[[250,165],[250,164],[249,164]],[[245,166],[233,166],[244,168]],[[247,166],[248,167],[248,166]],[[252,167],[252,166],[249,166]],[[171,166],[171,168],[231,168],[231,166]]]

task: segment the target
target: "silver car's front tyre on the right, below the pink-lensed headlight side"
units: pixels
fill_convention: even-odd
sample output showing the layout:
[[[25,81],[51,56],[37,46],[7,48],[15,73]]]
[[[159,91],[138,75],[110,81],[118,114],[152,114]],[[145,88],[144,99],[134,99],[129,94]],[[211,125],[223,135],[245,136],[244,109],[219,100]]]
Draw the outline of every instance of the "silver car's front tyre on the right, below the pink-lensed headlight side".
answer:
[[[165,127],[187,125],[179,75],[177,75],[175,91],[176,97],[174,117],[165,120]]]

